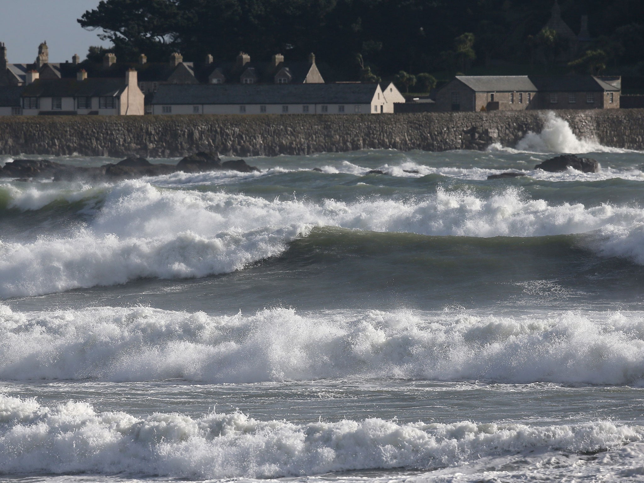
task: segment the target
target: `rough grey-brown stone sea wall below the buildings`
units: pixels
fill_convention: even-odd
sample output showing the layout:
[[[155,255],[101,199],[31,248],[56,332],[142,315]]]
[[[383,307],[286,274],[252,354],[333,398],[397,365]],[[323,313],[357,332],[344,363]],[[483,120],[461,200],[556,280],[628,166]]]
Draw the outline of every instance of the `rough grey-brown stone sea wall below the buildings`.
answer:
[[[581,138],[644,149],[644,109],[556,111]],[[233,156],[392,148],[515,146],[540,132],[545,111],[395,115],[2,117],[0,154],[149,158],[218,151]]]

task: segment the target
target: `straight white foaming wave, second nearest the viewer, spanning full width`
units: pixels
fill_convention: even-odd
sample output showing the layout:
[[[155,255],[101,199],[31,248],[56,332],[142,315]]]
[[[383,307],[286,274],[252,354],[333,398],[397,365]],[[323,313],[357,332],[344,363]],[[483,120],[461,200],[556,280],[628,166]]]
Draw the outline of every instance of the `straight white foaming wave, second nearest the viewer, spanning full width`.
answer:
[[[641,312],[522,317],[367,310],[208,316],[0,305],[0,378],[205,383],[339,377],[644,384]]]

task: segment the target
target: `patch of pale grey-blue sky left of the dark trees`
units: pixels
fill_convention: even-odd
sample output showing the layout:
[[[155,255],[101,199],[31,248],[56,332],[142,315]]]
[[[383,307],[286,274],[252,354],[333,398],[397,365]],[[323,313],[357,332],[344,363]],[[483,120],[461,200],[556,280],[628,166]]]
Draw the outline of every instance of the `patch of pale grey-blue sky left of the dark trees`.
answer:
[[[0,0],[0,42],[9,62],[33,62],[38,44],[47,41],[49,61],[71,61],[75,53],[84,59],[90,45],[108,46],[97,32],[84,30],[76,21],[99,0]]]

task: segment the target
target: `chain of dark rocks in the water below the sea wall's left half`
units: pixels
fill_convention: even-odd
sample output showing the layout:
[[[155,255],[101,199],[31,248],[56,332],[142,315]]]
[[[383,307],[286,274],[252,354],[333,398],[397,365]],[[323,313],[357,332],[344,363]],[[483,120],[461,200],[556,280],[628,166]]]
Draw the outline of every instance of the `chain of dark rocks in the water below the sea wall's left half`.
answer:
[[[131,179],[142,176],[160,176],[184,171],[200,173],[203,171],[230,170],[251,173],[259,171],[249,166],[243,159],[222,163],[219,156],[212,153],[197,153],[183,158],[178,164],[152,164],[145,158],[126,158],[116,164],[98,167],[78,167],[49,160],[17,159],[0,168],[0,178],[53,179],[54,181]]]

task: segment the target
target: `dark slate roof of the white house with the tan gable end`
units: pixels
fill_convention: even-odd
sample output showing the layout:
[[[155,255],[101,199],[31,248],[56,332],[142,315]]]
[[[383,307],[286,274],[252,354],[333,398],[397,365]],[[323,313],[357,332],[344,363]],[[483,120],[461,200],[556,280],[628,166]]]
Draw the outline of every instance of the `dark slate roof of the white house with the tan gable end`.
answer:
[[[23,97],[114,97],[125,89],[125,79],[39,79],[24,87]]]

